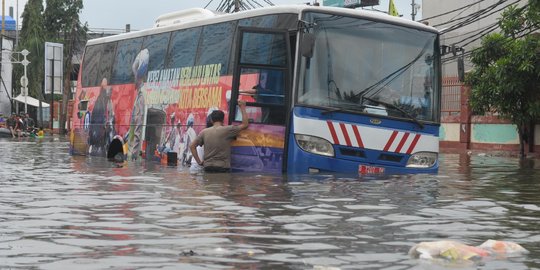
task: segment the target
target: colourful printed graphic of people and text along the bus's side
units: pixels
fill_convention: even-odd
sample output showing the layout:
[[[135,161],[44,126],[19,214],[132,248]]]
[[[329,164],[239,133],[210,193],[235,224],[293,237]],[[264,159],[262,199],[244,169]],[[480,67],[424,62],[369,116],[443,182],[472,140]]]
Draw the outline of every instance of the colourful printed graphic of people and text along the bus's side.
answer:
[[[87,101],[77,114],[83,131],[75,132],[85,133],[84,152],[89,155],[106,156],[114,138],[120,138],[123,160],[167,163],[168,153],[173,152],[178,164],[189,166],[189,145],[207,126],[208,115],[219,109],[228,121],[232,76],[220,74],[221,64],[148,70],[149,60],[147,49],[136,55],[132,84],[109,85],[108,78],[102,78],[99,87],[84,89],[77,97],[79,102]],[[259,74],[244,74],[241,81],[259,85]],[[260,119],[262,111],[251,107],[248,116]],[[284,127],[262,125],[244,131],[233,143],[232,163],[239,170],[279,170],[283,132]]]

